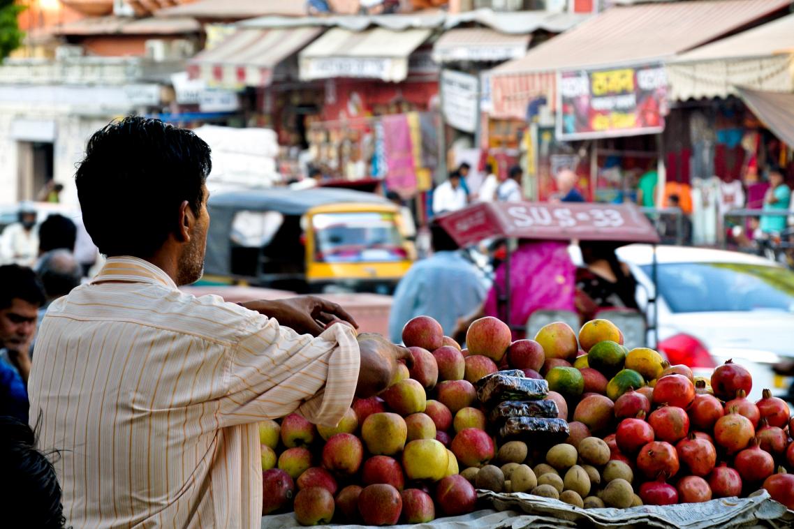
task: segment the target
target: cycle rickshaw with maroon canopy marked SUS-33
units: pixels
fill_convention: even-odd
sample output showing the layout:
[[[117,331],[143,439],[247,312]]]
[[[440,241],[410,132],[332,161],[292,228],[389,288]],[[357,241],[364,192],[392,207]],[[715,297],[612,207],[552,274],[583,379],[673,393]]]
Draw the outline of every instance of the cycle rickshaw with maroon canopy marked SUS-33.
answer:
[[[599,318],[612,320],[626,335],[626,343],[646,347],[658,343],[655,285],[655,245],[659,236],[647,217],[634,205],[595,203],[499,202],[470,205],[437,218],[441,227],[461,247],[482,240],[507,240],[505,282],[497,286],[497,312],[500,320],[511,324],[519,335],[534,336],[544,324],[563,320],[578,328],[580,315],[565,311],[533,312],[520,326],[511,321],[511,251],[518,240],[605,241],[617,246],[629,243],[653,245],[653,292],[647,293],[646,313],[611,310],[599,312]]]

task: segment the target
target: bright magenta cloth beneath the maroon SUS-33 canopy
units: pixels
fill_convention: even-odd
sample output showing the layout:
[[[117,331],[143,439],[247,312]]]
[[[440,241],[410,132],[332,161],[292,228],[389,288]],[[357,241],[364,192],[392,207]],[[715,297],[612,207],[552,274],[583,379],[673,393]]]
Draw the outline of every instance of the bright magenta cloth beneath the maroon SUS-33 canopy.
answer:
[[[511,325],[525,327],[536,310],[575,311],[576,267],[568,255],[568,244],[556,241],[526,241],[513,253],[510,268]],[[496,270],[494,286],[485,300],[485,315],[502,317],[497,290],[504,291],[504,263]],[[518,334],[514,332],[514,337]]]

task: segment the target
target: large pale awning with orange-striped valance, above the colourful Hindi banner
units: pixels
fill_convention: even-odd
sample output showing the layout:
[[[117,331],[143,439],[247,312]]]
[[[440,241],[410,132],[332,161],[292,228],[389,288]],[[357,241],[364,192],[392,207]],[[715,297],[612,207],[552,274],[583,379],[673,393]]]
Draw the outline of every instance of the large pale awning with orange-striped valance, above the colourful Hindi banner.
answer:
[[[769,14],[790,0],[693,0],[615,6],[491,70],[492,114],[523,118],[526,105],[556,90],[537,79],[549,72],[651,63],[707,44]],[[524,78],[522,81],[518,79]],[[529,78],[536,78],[534,81]],[[518,81],[518,82],[517,82]],[[511,91],[515,86],[525,91]]]

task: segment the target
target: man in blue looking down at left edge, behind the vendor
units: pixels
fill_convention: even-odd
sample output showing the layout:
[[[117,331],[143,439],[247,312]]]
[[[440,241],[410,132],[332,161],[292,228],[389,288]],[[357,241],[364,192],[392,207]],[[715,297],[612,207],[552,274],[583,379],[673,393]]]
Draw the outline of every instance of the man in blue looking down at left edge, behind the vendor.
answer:
[[[28,419],[25,383],[41,305],[44,292],[33,270],[19,265],[0,266],[0,416]]]

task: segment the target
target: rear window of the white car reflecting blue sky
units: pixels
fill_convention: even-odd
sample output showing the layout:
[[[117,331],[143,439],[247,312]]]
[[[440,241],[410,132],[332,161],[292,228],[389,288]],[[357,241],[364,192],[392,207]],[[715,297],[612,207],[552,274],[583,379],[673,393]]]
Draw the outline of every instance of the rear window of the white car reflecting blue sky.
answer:
[[[642,266],[651,277],[651,266]],[[794,312],[794,272],[745,263],[658,265],[659,293],[673,312]]]

